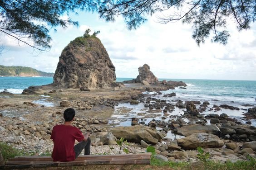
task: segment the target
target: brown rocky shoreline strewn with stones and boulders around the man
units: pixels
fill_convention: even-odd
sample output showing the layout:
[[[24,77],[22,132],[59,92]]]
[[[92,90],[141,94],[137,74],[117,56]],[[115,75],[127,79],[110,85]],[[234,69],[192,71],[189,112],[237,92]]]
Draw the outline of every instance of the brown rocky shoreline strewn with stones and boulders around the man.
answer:
[[[162,83],[162,82],[160,82]],[[175,93],[143,94],[148,87],[161,89],[161,85],[129,84],[116,88],[82,91],[80,89],[53,89],[53,86],[33,88],[31,94],[0,94],[0,142],[16,148],[40,154],[51,151],[53,143],[50,133],[54,125],[63,123],[62,113],[67,107],[76,109],[74,126],[82,132],[90,132],[92,154],[113,154],[108,144],[113,145],[115,137],[125,137],[131,145],[132,153],[144,152],[152,145],[159,157],[172,161],[196,161],[197,146],[209,151],[211,159],[220,161],[246,160],[249,154],[255,157],[256,127],[250,120],[244,124],[223,114],[203,115],[205,110],[237,110],[230,105],[213,105],[204,101],[180,101],[158,99],[158,95],[175,96]],[[169,88],[169,86],[167,86]],[[30,90],[31,92],[31,90]],[[34,101],[50,102],[53,107],[36,104]],[[160,120],[132,118],[131,125],[120,127],[109,123],[114,108],[121,103],[144,104],[147,112],[159,110],[163,113]],[[249,106],[250,107],[250,106]],[[175,109],[183,109],[182,115],[172,115]],[[247,118],[255,118],[255,108],[248,109]],[[14,117],[9,117],[14,115]],[[190,120],[185,122],[184,119]],[[210,120],[210,123],[209,121]],[[167,138],[168,132],[177,138]],[[179,137],[182,136],[182,137]]]

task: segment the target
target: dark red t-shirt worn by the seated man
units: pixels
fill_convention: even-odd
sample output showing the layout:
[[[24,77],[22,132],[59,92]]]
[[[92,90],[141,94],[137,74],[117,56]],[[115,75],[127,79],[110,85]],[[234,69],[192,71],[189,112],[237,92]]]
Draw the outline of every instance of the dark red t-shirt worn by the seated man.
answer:
[[[56,125],[52,130],[51,139],[54,142],[53,161],[68,162],[75,159],[75,140],[82,141],[84,135],[77,127]]]

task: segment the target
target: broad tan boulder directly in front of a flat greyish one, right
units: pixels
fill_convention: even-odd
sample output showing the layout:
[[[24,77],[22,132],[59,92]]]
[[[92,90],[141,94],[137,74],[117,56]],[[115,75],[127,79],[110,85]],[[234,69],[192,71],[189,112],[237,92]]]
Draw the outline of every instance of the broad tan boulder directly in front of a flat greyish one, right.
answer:
[[[216,135],[208,133],[194,133],[188,137],[177,139],[178,146],[184,149],[196,149],[198,146],[203,148],[222,147],[224,142]]]

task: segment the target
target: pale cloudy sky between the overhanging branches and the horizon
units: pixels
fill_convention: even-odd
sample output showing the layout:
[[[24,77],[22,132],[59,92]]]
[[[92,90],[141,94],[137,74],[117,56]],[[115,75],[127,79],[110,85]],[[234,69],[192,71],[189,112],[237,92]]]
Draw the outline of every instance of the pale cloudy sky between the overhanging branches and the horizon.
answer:
[[[63,16],[65,18],[65,16]],[[54,72],[61,51],[74,38],[82,36],[87,28],[100,31],[108,55],[116,67],[117,77],[136,77],[138,67],[148,64],[158,78],[256,80],[256,23],[251,29],[238,32],[231,21],[227,28],[231,37],[226,46],[211,43],[197,47],[192,39],[192,25],[159,24],[156,16],[148,19],[137,30],[129,31],[123,18],[114,23],[98,19],[98,14],[86,12],[71,15],[80,27],[57,28],[51,32],[49,52],[33,52],[31,47],[0,35],[5,46],[0,65],[30,66],[40,71]]]

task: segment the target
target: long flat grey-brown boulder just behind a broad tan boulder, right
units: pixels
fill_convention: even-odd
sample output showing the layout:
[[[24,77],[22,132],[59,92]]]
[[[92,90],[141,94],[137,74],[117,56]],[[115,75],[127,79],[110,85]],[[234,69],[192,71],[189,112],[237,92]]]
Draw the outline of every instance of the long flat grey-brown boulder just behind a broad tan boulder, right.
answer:
[[[201,124],[188,125],[174,129],[172,131],[185,137],[197,132],[206,132],[215,135],[218,135],[221,132],[219,128],[214,124],[205,126],[202,126]]]

